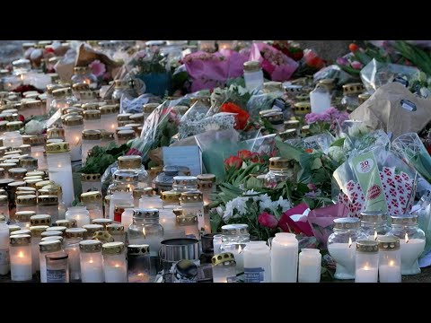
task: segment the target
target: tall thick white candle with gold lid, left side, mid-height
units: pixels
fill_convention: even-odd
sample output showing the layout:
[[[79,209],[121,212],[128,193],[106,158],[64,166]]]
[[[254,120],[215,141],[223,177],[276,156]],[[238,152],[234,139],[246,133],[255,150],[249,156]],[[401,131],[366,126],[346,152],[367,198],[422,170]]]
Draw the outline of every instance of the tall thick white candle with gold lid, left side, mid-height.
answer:
[[[70,206],[75,199],[72,161],[68,143],[47,144],[49,179],[63,191],[63,202]]]

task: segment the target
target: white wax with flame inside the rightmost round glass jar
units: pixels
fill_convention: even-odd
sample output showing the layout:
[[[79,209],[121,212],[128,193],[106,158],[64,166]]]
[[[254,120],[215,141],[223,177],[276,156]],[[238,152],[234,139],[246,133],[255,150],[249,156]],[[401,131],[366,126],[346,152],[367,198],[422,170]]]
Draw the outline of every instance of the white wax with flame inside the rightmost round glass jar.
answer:
[[[407,233],[406,233],[407,235]],[[425,249],[423,239],[400,239],[401,274],[417,275],[420,273],[418,258]]]

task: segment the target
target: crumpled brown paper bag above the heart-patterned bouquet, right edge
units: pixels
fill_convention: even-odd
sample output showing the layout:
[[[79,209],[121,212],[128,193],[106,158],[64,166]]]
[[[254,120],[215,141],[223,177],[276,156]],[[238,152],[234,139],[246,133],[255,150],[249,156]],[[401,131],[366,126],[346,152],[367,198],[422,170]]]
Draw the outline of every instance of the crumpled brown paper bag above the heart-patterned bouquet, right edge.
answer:
[[[379,88],[370,99],[357,107],[351,119],[361,120],[372,129],[382,128],[392,138],[419,132],[431,121],[431,100],[420,99],[401,83]]]

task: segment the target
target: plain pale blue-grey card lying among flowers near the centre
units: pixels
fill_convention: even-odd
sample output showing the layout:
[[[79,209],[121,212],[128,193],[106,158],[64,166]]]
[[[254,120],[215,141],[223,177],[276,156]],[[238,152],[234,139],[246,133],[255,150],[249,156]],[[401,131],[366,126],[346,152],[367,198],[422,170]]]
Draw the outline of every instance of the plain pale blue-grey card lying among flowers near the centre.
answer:
[[[163,147],[164,166],[189,167],[192,176],[202,173],[202,153],[198,146]]]

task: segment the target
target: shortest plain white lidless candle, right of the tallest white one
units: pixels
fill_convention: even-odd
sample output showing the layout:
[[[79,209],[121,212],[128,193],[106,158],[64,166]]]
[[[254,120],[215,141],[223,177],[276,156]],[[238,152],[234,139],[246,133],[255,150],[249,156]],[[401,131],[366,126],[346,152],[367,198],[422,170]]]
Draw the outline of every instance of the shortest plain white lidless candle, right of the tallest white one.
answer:
[[[319,283],[321,281],[321,251],[302,249],[299,254],[298,283]]]

